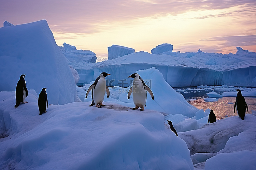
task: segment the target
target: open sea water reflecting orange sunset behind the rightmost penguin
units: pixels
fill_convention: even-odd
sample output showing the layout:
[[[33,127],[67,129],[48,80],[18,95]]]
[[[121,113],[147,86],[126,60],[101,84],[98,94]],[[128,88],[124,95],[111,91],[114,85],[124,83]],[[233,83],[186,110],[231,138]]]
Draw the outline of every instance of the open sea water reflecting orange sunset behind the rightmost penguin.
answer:
[[[196,88],[194,89],[195,90],[185,89],[184,92],[180,92],[189,104],[199,109],[203,109],[204,111],[208,108],[212,109],[218,120],[224,119],[226,115],[229,117],[237,116],[237,112],[234,113],[234,102],[236,101],[236,97],[223,97],[219,98],[218,101],[206,102],[203,100],[203,98],[207,98],[208,96],[206,93],[210,91]],[[244,98],[248,105],[249,114],[252,114],[252,110],[256,110],[256,97]]]

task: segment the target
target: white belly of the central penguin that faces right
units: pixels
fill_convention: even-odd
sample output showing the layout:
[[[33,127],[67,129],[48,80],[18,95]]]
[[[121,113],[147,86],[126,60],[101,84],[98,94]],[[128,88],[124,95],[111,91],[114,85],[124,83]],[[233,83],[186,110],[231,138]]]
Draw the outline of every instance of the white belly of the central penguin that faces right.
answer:
[[[93,99],[95,104],[100,104],[104,100],[105,96],[105,90],[106,90],[106,80],[103,78],[100,78],[95,86],[95,89],[93,90]]]

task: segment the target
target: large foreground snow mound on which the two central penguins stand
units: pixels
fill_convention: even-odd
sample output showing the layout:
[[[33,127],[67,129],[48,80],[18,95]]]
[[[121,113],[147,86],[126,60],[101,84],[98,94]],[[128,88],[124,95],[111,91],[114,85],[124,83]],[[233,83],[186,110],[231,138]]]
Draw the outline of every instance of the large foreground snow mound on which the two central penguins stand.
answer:
[[[29,93],[28,103],[14,109],[15,92],[0,92],[1,169],[193,170],[186,143],[159,112],[73,102],[39,116],[37,96]]]

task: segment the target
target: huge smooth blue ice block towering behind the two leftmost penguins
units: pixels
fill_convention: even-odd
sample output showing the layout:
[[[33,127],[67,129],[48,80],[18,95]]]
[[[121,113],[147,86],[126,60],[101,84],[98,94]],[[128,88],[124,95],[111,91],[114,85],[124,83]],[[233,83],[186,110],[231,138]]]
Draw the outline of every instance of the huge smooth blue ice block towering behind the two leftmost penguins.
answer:
[[[28,89],[47,88],[49,104],[76,99],[75,81],[46,20],[0,28],[0,91],[15,91],[21,74]]]

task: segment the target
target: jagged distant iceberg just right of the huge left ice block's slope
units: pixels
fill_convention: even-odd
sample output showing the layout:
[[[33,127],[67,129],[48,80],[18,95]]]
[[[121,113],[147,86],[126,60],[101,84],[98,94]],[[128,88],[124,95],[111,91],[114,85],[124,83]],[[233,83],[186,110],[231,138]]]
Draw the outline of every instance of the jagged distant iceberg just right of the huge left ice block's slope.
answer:
[[[90,50],[76,50],[75,46],[63,43],[63,47],[59,47],[62,54],[67,58],[70,66],[86,65],[86,63],[95,63],[96,54]]]

